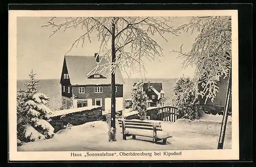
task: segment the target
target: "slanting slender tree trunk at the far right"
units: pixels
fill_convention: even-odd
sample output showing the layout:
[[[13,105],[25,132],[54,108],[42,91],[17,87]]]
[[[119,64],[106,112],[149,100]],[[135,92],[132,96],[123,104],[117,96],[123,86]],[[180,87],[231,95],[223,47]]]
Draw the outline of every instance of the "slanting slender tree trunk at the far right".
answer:
[[[230,97],[231,97],[231,70],[229,71],[229,76],[228,76],[226,101],[224,106],[224,113],[223,113],[223,119],[221,124],[221,132],[220,132],[220,137],[218,142],[218,149],[223,149],[223,145],[224,145],[224,138],[225,138],[225,132],[226,132],[226,126],[227,126],[227,118],[228,118],[227,112],[228,112]]]

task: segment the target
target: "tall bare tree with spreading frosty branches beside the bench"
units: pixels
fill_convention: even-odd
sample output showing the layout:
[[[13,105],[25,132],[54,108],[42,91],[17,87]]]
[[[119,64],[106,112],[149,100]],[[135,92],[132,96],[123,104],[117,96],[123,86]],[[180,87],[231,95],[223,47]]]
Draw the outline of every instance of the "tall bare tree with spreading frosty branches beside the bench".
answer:
[[[101,73],[110,71],[111,75],[111,132],[110,141],[116,141],[115,125],[115,69],[119,67],[127,75],[145,72],[145,59],[155,60],[163,56],[162,47],[154,35],[164,37],[165,33],[177,35],[172,25],[173,18],[170,17],[68,17],[65,19],[53,17],[43,27],[52,27],[53,32],[66,31],[70,28],[81,28],[84,33],[73,41],[70,50],[79,43],[83,46],[87,39],[91,42],[91,34],[96,33],[100,41],[99,52],[102,59],[108,63],[98,63],[90,71]],[[69,51],[70,51],[69,50]],[[68,52],[69,52],[68,51]],[[90,75],[88,74],[88,75]]]

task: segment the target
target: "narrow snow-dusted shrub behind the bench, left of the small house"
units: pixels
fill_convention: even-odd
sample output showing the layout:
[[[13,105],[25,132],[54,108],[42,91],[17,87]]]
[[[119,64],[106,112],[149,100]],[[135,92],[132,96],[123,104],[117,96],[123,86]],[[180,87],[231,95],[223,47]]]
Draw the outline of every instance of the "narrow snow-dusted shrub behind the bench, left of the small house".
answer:
[[[146,119],[147,99],[146,92],[143,91],[143,82],[139,81],[132,89],[132,108],[139,112],[141,120]]]

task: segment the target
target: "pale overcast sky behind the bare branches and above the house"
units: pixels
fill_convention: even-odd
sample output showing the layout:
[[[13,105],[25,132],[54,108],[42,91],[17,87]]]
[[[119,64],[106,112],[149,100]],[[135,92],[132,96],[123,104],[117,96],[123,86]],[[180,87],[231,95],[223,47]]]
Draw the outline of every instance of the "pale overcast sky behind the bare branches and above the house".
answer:
[[[82,34],[82,30],[70,29],[64,33],[60,31],[49,37],[52,29],[41,27],[49,19],[49,17],[17,17],[17,79],[28,79],[31,69],[37,74],[37,79],[60,78],[64,55],[70,49],[73,40]],[[174,22],[174,26],[189,20],[189,17],[181,17]],[[166,35],[168,42],[156,36],[154,39],[162,46],[164,57],[161,57],[160,61],[145,61],[146,78],[179,78],[183,75],[192,77],[194,68],[183,69],[183,60],[176,59],[178,55],[169,51],[179,50],[181,44],[184,51],[189,51],[196,35],[196,33]],[[83,47],[79,45],[67,55],[94,56],[98,49],[98,39],[92,38],[92,43],[86,41]],[[123,74],[123,77],[127,78],[127,75]],[[141,78],[141,75],[130,77]]]

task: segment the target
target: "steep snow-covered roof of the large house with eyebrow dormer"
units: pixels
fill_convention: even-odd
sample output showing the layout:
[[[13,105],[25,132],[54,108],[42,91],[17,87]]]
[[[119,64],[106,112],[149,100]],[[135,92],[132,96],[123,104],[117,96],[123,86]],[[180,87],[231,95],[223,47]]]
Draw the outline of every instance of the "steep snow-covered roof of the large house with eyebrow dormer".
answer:
[[[100,58],[101,59],[101,58]],[[101,73],[105,78],[100,79],[88,79],[91,70],[97,66],[97,62],[94,56],[65,56],[67,69],[69,73],[69,79],[71,85],[87,85],[87,84],[111,84],[111,77],[108,76],[110,69]],[[103,59],[100,64],[109,63],[107,60]],[[104,66],[97,69],[101,70]],[[122,74],[120,69],[117,67],[115,71],[116,84],[124,84]]]

